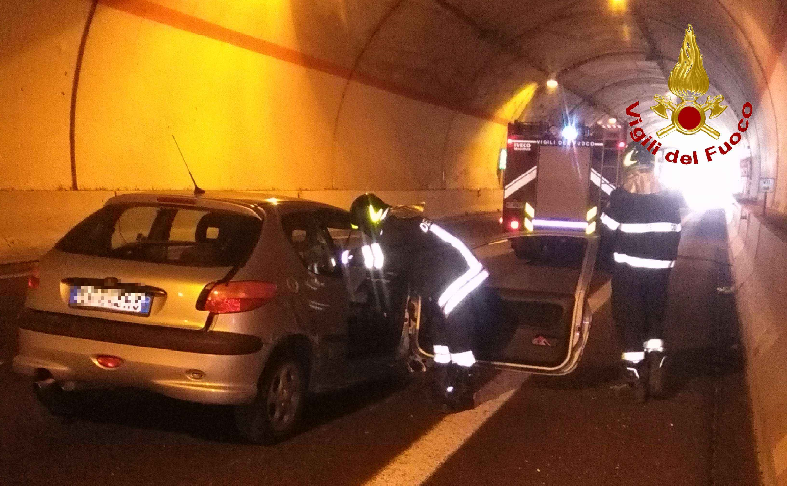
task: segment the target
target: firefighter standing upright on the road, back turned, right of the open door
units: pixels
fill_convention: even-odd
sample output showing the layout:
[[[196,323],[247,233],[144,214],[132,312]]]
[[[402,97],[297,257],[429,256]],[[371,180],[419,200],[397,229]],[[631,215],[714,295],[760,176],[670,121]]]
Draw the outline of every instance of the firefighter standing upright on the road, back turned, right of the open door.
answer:
[[[644,401],[664,392],[664,311],[681,237],[681,198],[662,190],[652,156],[630,158],[623,188],[612,191],[601,222],[604,247],[613,251],[612,317],[625,347],[623,380]]]

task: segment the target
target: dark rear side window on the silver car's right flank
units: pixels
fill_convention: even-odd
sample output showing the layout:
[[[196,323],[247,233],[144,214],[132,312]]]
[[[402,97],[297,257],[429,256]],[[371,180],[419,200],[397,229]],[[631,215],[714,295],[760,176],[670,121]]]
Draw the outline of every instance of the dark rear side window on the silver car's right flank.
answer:
[[[282,226],[290,245],[310,272],[327,276],[338,273],[331,236],[318,224],[314,213],[286,214]]]

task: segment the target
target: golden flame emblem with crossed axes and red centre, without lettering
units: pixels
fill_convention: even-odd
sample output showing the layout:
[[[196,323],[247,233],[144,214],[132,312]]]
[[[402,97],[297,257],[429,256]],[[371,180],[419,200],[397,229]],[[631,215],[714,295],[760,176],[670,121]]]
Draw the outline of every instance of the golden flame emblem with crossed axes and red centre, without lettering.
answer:
[[[714,139],[719,139],[721,134],[705,123],[705,112],[711,110],[708,118],[715,118],[724,113],[727,107],[720,105],[724,101],[724,97],[722,95],[708,96],[703,105],[696,102],[696,98],[708,91],[710,81],[708,73],[705,72],[702,65],[702,54],[696,45],[696,35],[691,24],[685,32],[678,62],[672,68],[670,79],[667,82],[672,94],[681,98],[681,103],[675,106],[669,98],[662,95],[653,97],[659,104],[651,106],[650,109],[660,117],[672,121],[669,126],[656,132],[656,135],[663,138],[673,130],[691,135],[702,130]],[[667,109],[672,112],[671,117],[667,115]]]

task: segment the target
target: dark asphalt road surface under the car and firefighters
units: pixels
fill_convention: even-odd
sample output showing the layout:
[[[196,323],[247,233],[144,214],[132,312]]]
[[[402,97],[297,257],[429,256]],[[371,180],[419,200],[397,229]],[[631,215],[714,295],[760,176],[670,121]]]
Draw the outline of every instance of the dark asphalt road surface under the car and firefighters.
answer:
[[[626,402],[608,286],[594,285],[588,349],[567,377],[488,372],[474,410],[442,414],[423,376],[312,399],[305,431],[241,443],[231,412],[142,391],[93,391],[67,421],[14,375],[24,277],[0,280],[0,485],[457,486],[758,484],[720,213],[686,217],[667,313],[668,399]],[[445,224],[478,241],[490,217]],[[6,267],[6,273],[18,269]]]

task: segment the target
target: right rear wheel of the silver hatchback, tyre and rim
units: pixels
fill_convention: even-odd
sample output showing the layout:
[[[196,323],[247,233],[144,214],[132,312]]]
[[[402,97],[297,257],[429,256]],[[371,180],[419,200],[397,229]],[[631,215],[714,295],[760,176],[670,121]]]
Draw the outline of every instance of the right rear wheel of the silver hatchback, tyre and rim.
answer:
[[[257,383],[253,403],[235,406],[235,426],[251,443],[273,444],[293,436],[306,399],[306,366],[292,351],[272,358]]]

